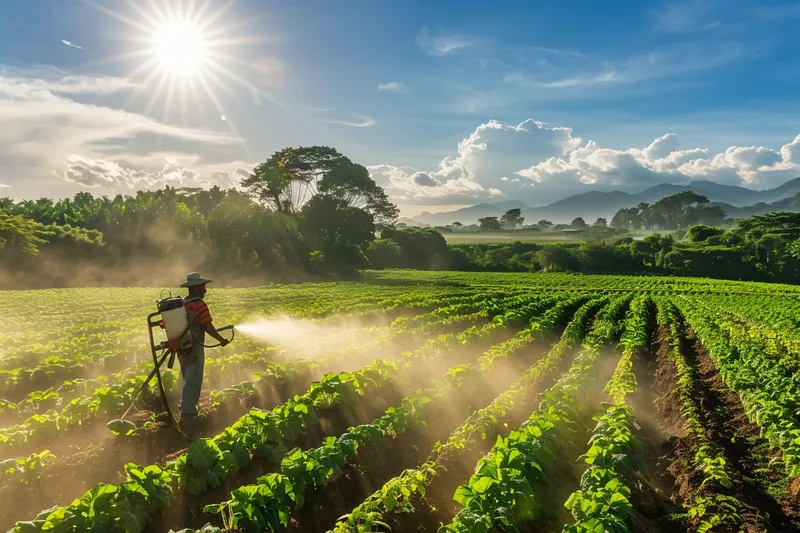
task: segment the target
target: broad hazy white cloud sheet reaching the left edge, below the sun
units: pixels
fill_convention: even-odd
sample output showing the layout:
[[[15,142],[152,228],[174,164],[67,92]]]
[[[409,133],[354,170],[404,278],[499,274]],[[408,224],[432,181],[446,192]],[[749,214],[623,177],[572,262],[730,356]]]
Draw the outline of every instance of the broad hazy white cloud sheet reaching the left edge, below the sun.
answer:
[[[56,172],[81,187],[125,188],[128,184],[147,183],[146,179],[137,181],[147,176],[123,171],[119,166],[125,159],[151,157],[153,142],[145,139],[159,139],[186,147],[184,152],[203,152],[206,156],[217,149],[230,152],[231,146],[241,142],[227,133],[173,126],[100,105],[107,99],[118,100],[136,88],[122,78],[77,76],[51,67],[0,67],[0,169],[13,169],[11,183],[15,192],[40,194],[47,186],[47,177],[52,180]],[[83,101],[87,97],[95,103]],[[61,172],[65,161],[68,171]],[[208,165],[199,167],[204,175],[211,176]],[[173,176],[169,172],[163,174],[166,179]],[[64,192],[63,187],[59,190]]]

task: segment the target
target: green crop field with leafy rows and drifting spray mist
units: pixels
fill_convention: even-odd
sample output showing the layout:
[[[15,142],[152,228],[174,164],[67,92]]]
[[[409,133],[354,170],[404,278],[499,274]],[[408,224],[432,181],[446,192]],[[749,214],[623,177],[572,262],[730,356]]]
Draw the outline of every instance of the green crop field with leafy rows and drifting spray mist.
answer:
[[[209,289],[217,326],[248,327],[206,350],[191,440],[155,381],[132,426],[106,425],[152,367],[160,289],[0,291],[0,529],[800,531],[800,288],[383,271]]]

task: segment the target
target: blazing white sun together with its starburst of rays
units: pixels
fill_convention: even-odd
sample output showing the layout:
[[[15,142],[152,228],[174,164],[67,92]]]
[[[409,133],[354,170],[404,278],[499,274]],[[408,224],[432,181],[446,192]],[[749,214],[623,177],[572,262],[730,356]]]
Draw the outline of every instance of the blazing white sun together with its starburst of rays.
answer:
[[[236,20],[232,8],[237,0],[124,0],[118,2],[127,6],[120,5],[121,10],[98,0],[82,1],[127,27],[118,35],[125,51],[93,64],[118,63],[129,68],[125,77],[137,88],[123,107],[143,96],[145,115],[152,115],[163,102],[162,121],[173,120],[173,112],[179,110],[182,121],[190,122],[205,120],[213,106],[210,116],[239,137],[225,109],[231,101],[244,105],[233,89],[244,89],[256,104],[262,98],[272,100],[266,90],[249,81],[259,73],[258,62],[243,49],[269,37],[247,32],[257,17]]]

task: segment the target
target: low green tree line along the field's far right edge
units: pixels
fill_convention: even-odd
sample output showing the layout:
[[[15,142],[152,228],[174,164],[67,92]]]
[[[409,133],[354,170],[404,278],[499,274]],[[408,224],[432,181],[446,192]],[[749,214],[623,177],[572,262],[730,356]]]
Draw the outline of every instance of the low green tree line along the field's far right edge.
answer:
[[[565,243],[456,244],[455,270],[662,274],[800,282],[800,213],[770,213],[725,229],[693,225],[641,239]]]

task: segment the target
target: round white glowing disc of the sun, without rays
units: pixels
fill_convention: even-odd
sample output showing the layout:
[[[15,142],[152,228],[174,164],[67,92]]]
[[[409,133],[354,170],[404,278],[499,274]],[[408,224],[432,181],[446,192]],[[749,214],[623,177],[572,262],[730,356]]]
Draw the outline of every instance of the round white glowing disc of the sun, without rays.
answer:
[[[197,74],[208,59],[207,42],[190,21],[166,21],[153,32],[154,52],[168,74]]]

